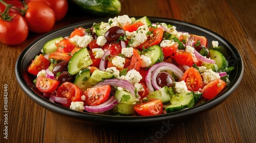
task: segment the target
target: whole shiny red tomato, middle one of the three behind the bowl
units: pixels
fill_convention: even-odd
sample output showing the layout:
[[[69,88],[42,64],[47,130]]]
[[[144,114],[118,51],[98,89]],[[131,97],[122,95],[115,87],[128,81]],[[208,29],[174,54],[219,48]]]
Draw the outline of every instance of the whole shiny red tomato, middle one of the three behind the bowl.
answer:
[[[25,18],[28,21],[29,30],[36,33],[51,31],[55,23],[54,11],[40,1],[28,3]]]

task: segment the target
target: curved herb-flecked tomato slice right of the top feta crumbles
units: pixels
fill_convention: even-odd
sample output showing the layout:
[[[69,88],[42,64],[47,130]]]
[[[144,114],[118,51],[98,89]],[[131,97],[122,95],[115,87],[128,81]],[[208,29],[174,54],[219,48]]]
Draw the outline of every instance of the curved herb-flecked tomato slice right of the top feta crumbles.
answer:
[[[157,45],[161,42],[163,38],[163,29],[162,28],[150,28],[152,30],[153,36],[150,36],[144,43],[138,46],[139,49],[147,49],[148,46]]]

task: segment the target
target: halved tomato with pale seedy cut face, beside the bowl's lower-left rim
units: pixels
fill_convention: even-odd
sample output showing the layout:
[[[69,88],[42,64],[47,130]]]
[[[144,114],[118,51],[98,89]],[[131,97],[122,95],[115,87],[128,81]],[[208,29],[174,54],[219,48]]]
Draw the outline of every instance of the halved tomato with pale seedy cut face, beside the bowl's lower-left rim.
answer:
[[[41,92],[52,93],[58,88],[59,81],[46,77],[37,77],[35,86]]]

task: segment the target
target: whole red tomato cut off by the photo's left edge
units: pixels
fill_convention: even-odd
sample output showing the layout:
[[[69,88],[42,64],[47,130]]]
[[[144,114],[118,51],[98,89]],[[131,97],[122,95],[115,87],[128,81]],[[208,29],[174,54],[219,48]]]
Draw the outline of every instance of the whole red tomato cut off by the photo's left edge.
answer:
[[[28,24],[22,15],[10,13],[9,16],[13,16],[10,21],[0,18],[0,42],[7,45],[17,45],[24,42],[28,37]]]

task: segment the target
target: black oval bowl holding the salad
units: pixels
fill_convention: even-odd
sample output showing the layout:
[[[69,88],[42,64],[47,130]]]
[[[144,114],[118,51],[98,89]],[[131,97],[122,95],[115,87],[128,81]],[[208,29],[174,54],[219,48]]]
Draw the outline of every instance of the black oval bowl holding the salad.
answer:
[[[139,17],[136,17],[139,18]],[[20,54],[16,62],[15,75],[20,87],[27,94],[27,96],[32,99],[35,103],[44,107],[45,109],[54,112],[56,114],[68,117],[75,121],[96,124],[96,125],[106,125],[106,126],[151,126],[151,125],[161,125],[163,122],[165,124],[173,124],[187,120],[191,117],[200,115],[212,108],[215,108],[226,100],[230,94],[236,90],[243,77],[244,67],[241,55],[237,49],[225,40],[220,35],[211,32],[205,28],[193,25],[191,23],[186,23],[173,19],[156,18],[149,17],[152,22],[165,22],[177,27],[178,31],[189,32],[197,35],[205,36],[208,39],[208,45],[211,45],[212,40],[219,41],[219,45],[225,47],[224,56],[229,61],[230,66],[235,66],[236,68],[230,74],[231,84],[223,90],[220,95],[205,104],[195,106],[193,108],[182,110],[174,113],[161,114],[155,116],[112,116],[112,115],[102,115],[87,112],[74,111],[57,104],[50,102],[49,100],[42,97],[42,93],[38,91],[33,83],[35,79],[34,76],[28,73],[27,67],[31,63],[31,60],[38,55],[42,46],[49,40],[62,36],[68,36],[76,27],[90,28],[94,22],[105,21],[108,22],[108,18],[101,18],[96,20],[90,20],[85,22],[79,22],[74,25],[61,28],[59,30],[48,33],[37,40],[29,44],[26,49]]]

